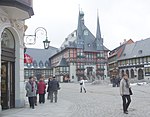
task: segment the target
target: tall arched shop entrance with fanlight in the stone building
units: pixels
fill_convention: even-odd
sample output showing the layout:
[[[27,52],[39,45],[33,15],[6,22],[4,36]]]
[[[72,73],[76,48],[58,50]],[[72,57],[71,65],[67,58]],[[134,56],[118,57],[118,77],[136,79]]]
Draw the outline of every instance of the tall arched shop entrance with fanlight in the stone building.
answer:
[[[9,29],[4,29],[1,41],[1,106],[15,107],[15,39]]]

